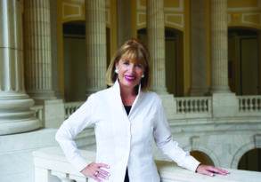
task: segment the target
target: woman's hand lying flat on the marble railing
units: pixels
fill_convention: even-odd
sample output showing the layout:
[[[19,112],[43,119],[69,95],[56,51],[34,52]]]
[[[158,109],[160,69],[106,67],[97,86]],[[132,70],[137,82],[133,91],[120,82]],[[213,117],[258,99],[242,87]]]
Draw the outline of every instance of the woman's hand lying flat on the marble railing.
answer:
[[[200,164],[196,170],[196,172],[204,175],[208,175],[210,177],[214,177],[215,174],[227,175],[229,172],[227,170],[223,170],[220,168],[216,168],[210,165]]]

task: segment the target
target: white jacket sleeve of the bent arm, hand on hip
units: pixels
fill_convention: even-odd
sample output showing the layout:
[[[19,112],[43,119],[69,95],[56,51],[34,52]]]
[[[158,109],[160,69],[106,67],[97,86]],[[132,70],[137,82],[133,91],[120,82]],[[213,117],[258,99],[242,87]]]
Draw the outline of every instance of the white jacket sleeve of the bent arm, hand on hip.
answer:
[[[94,95],[91,95],[76,112],[61,124],[55,135],[55,139],[66,158],[78,171],[83,170],[88,163],[79,153],[74,138],[79,132],[95,122],[94,104]]]

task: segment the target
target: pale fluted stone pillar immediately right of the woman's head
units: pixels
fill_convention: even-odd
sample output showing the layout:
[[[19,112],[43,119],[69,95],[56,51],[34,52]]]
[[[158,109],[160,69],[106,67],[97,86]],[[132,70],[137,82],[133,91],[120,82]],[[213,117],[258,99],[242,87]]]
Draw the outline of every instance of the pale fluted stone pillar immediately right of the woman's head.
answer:
[[[148,49],[151,55],[151,89],[167,93],[163,0],[147,0]]]

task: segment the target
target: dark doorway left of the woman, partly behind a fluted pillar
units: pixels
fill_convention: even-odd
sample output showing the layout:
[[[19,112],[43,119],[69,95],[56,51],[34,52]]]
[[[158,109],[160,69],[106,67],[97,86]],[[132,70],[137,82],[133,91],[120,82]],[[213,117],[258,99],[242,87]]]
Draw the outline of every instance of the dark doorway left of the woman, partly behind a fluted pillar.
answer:
[[[110,63],[110,28],[106,28],[107,66]],[[63,24],[64,99],[86,100],[86,22]],[[105,74],[105,73],[104,73]]]

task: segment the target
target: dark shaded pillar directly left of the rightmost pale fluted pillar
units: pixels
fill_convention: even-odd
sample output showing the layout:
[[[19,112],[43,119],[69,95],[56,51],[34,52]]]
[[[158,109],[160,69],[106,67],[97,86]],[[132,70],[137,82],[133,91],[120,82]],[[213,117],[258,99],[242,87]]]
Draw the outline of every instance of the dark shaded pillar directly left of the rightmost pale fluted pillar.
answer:
[[[192,96],[208,93],[207,86],[207,13],[205,0],[191,1],[192,20]]]

